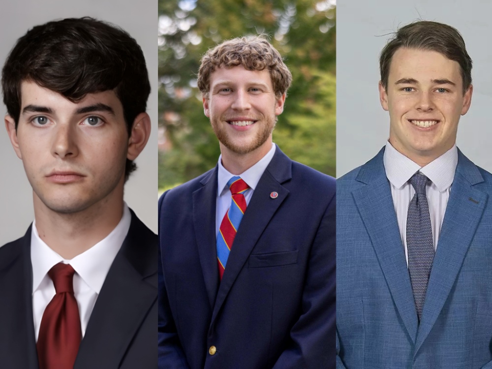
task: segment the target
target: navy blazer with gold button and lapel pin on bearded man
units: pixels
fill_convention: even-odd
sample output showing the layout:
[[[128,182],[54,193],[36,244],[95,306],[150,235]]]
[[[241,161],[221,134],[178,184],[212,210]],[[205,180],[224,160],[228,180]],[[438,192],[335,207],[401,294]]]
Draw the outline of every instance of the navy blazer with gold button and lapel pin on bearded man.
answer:
[[[277,148],[221,282],[216,197],[217,168],[159,200],[159,368],[335,368],[335,180]]]

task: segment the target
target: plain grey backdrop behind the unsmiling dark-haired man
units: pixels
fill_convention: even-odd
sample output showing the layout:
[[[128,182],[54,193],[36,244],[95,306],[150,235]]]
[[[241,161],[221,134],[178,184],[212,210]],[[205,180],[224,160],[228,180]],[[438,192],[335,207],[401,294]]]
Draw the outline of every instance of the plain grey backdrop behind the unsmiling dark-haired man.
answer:
[[[0,11],[0,64],[15,41],[33,26],[55,19],[91,16],[120,26],[144,52],[152,92],[147,112],[151,138],[136,159],[138,169],[125,184],[125,201],[138,217],[157,232],[157,1],[133,0],[22,0],[3,1]],[[22,237],[34,219],[32,189],[3,123],[0,103],[0,246]]]

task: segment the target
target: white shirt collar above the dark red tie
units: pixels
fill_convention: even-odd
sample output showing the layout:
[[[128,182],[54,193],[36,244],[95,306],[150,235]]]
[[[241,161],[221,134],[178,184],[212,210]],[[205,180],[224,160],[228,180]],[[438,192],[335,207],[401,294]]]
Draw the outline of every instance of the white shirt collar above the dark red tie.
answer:
[[[128,206],[124,203],[123,216],[115,229],[88,250],[71,260],[67,260],[41,240],[34,220],[31,230],[32,292],[39,288],[43,278],[55,264],[63,262],[70,264],[84,282],[99,294],[109,268],[123,245],[130,223],[131,214]]]

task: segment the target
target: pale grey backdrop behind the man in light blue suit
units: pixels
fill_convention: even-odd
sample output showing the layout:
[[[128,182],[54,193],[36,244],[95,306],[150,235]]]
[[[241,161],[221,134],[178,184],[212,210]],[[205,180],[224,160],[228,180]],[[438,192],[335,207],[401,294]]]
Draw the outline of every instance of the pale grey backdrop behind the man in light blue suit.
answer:
[[[337,3],[337,177],[386,143],[389,115],[379,104],[379,53],[399,26],[418,19],[460,31],[473,60],[473,96],[457,145],[492,172],[492,1],[343,0]]]

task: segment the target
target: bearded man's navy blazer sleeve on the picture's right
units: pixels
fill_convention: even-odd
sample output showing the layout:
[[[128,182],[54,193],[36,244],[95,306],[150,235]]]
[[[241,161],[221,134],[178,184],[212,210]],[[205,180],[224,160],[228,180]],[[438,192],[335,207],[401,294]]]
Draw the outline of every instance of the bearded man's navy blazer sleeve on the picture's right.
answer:
[[[301,315],[273,369],[335,368],[335,213],[333,194],[311,247]]]

